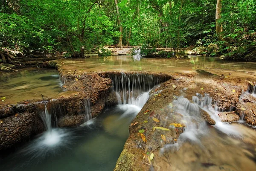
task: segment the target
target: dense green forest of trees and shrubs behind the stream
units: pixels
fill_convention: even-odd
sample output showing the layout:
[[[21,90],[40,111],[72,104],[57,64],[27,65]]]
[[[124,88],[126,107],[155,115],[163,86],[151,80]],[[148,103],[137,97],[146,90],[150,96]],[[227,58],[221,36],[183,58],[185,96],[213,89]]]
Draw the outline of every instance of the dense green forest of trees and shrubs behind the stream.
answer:
[[[105,45],[242,59],[256,49],[256,0],[1,0],[0,50],[82,56]]]

